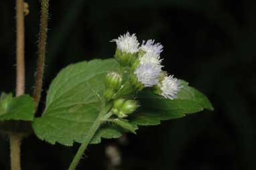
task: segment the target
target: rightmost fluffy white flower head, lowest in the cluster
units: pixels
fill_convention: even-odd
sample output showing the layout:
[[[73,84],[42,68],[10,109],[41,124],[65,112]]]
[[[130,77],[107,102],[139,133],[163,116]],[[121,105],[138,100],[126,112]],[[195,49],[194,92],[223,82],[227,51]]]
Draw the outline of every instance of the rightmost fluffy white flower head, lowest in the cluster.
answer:
[[[162,90],[162,96],[165,98],[170,98],[173,100],[174,98],[177,98],[178,92],[180,92],[180,89],[182,86],[180,85],[180,82],[177,78],[174,78],[174,76],[166,76],[164,80],[162,81],[162,84],[160,86],[160,89]]]

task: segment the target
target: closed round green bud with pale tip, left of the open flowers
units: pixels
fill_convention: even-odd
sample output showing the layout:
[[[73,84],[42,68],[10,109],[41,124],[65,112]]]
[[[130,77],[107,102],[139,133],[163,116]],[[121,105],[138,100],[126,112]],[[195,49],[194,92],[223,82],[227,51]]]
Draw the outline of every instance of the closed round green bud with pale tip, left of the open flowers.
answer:
[[[108,72],[105,77],[105,86],[107,88],[113,88],[113,90],[119,90],[121,87],[122,78],[117,72]]]

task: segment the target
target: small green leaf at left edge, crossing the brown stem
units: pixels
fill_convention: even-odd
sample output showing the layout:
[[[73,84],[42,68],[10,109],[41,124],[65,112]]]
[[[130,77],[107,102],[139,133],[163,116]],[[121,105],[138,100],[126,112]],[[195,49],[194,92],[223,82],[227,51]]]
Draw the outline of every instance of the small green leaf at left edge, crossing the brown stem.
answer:
[[[3,120],[33,120],[34,101],[28,95],[12,97],[11,94],[1,94],[0,121]]]

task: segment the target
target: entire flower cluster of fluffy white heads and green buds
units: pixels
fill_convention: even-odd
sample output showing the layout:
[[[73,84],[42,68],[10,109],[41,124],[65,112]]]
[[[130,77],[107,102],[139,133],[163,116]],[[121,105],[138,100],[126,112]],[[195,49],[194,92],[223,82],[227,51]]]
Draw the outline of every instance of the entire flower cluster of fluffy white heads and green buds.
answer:
[[[137,94],[137,91],[143,88],[153,88],[156,94],[170,100],[177,97],[182,86],[178,79],[173,75],[168,76],[162,70],[164,67],[160,58],[164,48],[162,44],[149,39],[143,40],[140,46],[135,33],[129,32],[113,41],[117,44],[115,58],[123,67],[123,72],[120,75],[116,72],[107,74],[105,97],[114,100],[113,112],[117,116],[126,117],[137,109],[139,106],[137,100],[129,100],[129,97],[124,96]],[[127,81],[121,83],[123,74],[129,75]]]

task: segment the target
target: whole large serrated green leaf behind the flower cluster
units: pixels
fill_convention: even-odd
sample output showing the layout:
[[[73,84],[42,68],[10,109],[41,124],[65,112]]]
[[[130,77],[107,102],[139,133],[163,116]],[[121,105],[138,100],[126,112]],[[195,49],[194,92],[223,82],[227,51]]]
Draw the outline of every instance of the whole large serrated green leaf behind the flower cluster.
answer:
[[[92,124],[99,120],[105,75],[109,70],[118,69],[119,64],[115,60],[92,60],[64,68],[50,85],[43,116],[36,118],[32,124],[38,138],[68,146],[84,142]],[[139,112],[133,113],[129,120],[114,118],[101,124],[90,143],[100,143],[101,138],[120,137],[125,131],[135,133],[137,125],[159,124],[160,120],[212,108],[203,94],[186,82],[182,83],[184,88],[176,100],[142,92]]]

